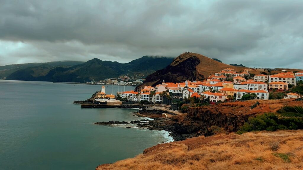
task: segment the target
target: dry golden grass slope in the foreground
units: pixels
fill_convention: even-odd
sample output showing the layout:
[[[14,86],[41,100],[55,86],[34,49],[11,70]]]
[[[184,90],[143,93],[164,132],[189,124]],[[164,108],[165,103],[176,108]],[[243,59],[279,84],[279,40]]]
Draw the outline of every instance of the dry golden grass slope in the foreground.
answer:
[[[96,169],[303,169],[303,131],[191,138],[159,144],[135,158],[100,165]]]

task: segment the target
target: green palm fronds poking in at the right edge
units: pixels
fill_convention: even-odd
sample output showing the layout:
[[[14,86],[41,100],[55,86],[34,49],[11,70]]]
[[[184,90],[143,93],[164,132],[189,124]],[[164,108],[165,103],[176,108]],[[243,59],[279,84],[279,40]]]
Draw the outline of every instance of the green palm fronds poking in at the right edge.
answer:
[[[290,89],[292,93],[303,95],[303,85],[297,85]],[[288,105],[283,106],[277,110],[279,118],[299,118],[303,119],[303,106],[302,105]]]

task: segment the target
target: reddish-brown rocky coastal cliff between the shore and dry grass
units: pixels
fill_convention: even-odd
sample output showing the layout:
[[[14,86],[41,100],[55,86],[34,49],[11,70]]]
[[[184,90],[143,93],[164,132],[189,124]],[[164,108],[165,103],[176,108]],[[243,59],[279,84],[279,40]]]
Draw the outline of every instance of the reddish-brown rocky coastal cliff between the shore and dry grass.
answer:
[[[251,108],[256,102],[259,104]],[[211,136],[214,134],[212,127],[221,128],[225,132],[235,132],[248,121],[249,117],[275,112],[287,102],[288,100],[283,100],[283,102],[249,100],[191,107],[188,108],[187,114],[173,116],[165,122],[151,121],[147,125],[149,128],[154,127],[150,128],[152,130],[169,131],[175,141],[181,141],[200,135]]]

